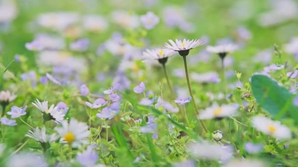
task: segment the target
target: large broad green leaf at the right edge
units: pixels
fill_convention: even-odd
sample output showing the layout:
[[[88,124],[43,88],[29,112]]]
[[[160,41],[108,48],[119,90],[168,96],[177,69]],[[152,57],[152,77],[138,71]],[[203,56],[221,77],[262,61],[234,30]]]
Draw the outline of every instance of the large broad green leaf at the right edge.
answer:
[[[298,107],[293,105],[295,97],[285,87],[264,75],[251,77],[252,94],[257,103],[275,119],[291,116],[298,124]]]

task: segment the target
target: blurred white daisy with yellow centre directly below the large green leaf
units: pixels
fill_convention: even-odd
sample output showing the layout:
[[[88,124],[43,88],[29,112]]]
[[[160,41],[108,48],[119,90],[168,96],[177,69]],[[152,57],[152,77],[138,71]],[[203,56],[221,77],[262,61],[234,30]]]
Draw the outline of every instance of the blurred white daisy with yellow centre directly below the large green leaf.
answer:
[[[277,139],[288,139],[292,136],[290,129],[285,125],[281,125],[278,121],[272,121],[271,119],[262,116],[255,116],[252,118],[251,122],[252,125],[261,132]]]

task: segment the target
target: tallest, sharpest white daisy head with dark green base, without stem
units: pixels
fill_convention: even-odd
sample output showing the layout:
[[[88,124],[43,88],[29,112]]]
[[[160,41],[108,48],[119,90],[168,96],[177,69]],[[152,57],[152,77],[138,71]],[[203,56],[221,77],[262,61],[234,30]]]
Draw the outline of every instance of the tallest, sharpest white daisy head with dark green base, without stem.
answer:
[[[174,42],[173,40],[169,40],[169,43],[165,44],[165,48],[178,51],[181,56],[187,56],[189,54],[189,50],[193,49],[195,47],[198,47],[199,45],[202,45],[202,40],[186,40],[183,41],[177,40]]]

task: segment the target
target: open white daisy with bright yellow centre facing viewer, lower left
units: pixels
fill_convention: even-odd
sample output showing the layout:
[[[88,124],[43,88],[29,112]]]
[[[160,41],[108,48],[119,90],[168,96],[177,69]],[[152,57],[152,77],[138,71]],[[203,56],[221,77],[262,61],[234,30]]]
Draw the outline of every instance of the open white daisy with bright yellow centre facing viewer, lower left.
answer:
[[[56,127],[55,130],[58,132],[63,142],[66,142],[73,147],[81,146],[81,144],[84,143],[84,139],[90,134],[88,126],[75,119],[72,119],[69,124],[66,121],[63,121],[62,127]]]

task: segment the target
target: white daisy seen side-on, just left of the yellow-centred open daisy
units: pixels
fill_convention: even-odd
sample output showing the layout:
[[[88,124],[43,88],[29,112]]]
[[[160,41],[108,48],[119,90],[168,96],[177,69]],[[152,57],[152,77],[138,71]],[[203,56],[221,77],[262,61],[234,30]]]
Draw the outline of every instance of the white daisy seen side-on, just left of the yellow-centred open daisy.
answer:
[[[51,143],[57,140],[55,133],[51,135],[48,135],[46,133],[46,127],[43,127],[41,129],[36,127],[34,130],[29,130],[29,132],[25,136],[41,143]]]

